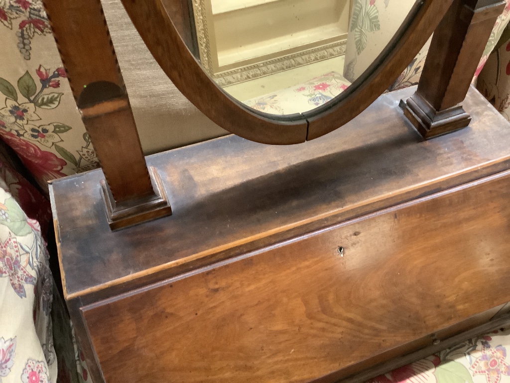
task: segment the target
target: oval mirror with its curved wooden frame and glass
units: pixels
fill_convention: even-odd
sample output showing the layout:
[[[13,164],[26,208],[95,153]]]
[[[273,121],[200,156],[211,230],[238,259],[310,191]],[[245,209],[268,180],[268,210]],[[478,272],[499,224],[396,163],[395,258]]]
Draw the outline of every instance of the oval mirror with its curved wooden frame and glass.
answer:
[[[177,88],[224,129],[291,144],[344,125],[452,0],[122,0]]]

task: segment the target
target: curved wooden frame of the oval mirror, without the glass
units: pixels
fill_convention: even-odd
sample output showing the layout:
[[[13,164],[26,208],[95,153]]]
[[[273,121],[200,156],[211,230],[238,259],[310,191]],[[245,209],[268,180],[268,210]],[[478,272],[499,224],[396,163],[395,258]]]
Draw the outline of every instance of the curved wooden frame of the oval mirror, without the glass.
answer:
[[[398,41],[392,42],[381,54],[381,60],[368,69],[363,79],[366,81],[355,82],[335,101],[312,112],[294,115],[289,121],[256,113],[218,87],[190,54],[162,0],[122,0],[122,4],[173,84],[212,121],[253,141],[292,144],[338,129],[367,108],[418,54],[452,1],[418,2],[421,6],[410,15],[409,28],[400,30]]]

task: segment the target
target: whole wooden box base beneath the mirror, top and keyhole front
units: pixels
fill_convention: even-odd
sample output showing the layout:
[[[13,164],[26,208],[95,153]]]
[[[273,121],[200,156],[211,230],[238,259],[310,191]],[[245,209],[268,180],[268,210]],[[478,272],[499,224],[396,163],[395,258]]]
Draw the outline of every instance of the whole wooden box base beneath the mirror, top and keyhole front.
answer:
[[[414,91],[300,145],[149,156],[173,214],[123,230],[101,171],[53,182],[93,380],[361,381],[508,322],[510,124],[471,89],[469,127],[423,141]]]

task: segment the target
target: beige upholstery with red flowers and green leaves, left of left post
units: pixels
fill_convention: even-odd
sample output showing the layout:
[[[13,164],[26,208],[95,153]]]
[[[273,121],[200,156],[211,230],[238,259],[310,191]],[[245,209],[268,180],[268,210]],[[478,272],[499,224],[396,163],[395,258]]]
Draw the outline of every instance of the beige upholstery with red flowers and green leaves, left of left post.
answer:
[[[0,138],[43,189],[98,166],[40,0],[0,0]]]

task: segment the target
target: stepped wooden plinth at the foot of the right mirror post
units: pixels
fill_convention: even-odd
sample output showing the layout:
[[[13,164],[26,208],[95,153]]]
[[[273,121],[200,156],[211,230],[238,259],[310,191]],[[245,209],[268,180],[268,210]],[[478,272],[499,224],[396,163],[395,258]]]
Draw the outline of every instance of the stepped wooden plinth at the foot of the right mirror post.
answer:
[[[438,111],[417,93],[407,100],[401,100],[400,107],[425,139],[465,128],[471,122],[471,117],[461,105]]]

